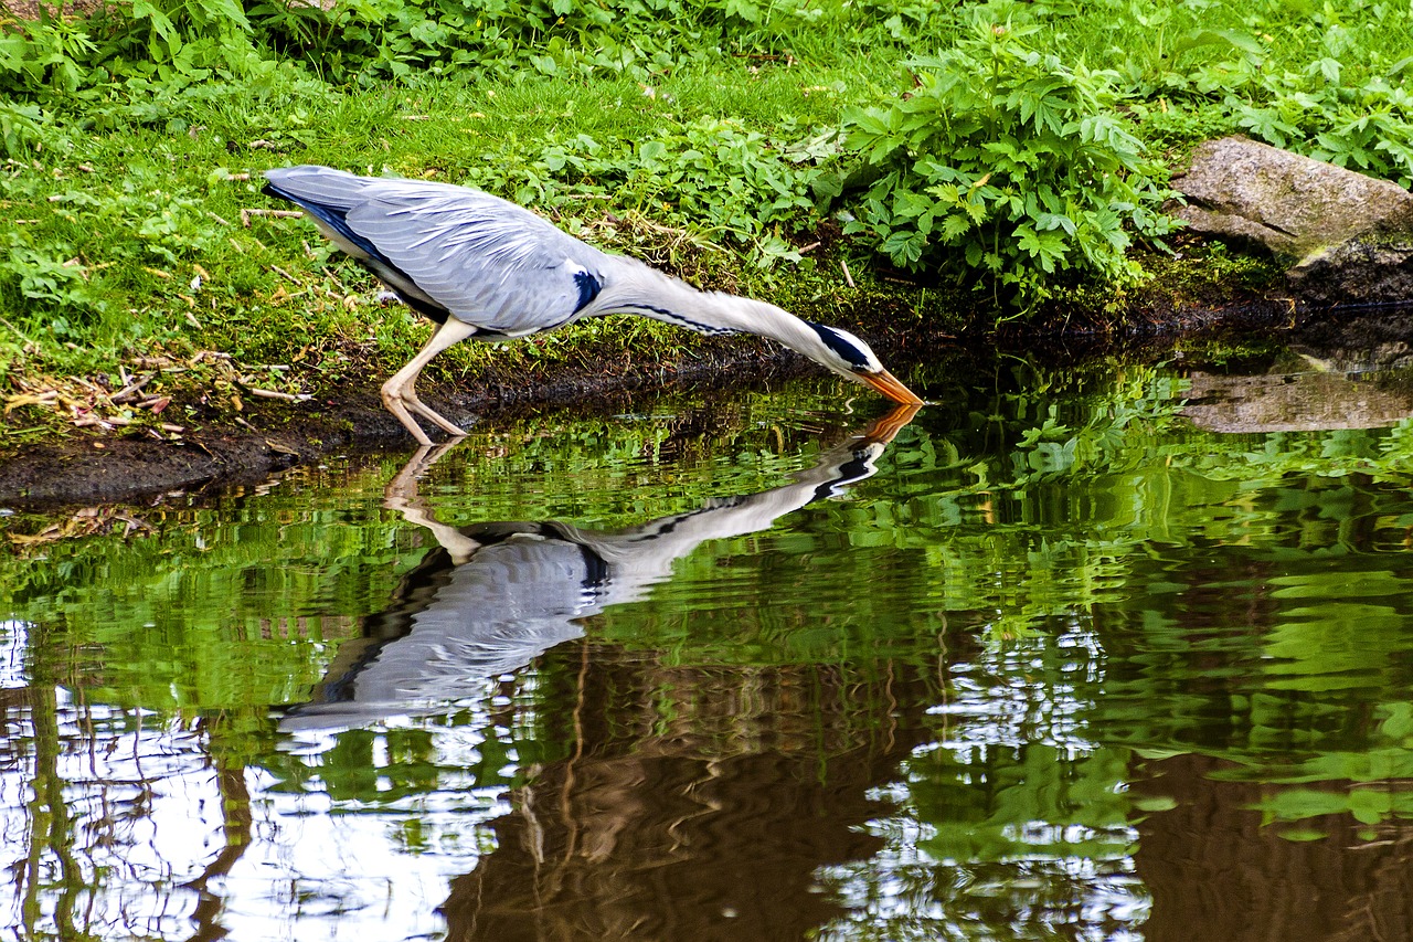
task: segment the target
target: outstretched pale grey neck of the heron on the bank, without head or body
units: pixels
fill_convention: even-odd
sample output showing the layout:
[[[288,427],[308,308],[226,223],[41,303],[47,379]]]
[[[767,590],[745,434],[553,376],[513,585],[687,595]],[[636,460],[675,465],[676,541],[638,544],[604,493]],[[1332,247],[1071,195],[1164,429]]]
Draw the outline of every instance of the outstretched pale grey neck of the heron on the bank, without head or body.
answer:
[[[605,286],[603,314],[639,314],[702,334],[757,334],[800,349],[814,338],[803,320],[774,304],[719,291],[698,291],[685,281],[633,263]]]

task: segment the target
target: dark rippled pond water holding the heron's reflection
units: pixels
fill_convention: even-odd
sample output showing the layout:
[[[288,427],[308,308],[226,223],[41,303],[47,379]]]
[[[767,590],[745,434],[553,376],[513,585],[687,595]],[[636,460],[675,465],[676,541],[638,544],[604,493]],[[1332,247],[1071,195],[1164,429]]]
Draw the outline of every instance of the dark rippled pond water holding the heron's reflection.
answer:
[[[1400,351],[904,379],[3,518],[0,919],[1407,938]]]

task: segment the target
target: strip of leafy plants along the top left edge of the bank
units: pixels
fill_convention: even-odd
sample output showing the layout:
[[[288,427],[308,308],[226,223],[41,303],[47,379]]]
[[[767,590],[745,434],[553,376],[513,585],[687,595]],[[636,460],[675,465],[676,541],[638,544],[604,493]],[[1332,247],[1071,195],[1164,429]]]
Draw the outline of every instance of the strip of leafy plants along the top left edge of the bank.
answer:
[[[627,75],[646,81],[722,51],[788,59],[814,30],[859,30],[848,0],[134,0],[0,31],[0,88],[75,92],[133,76],[246,76],[276,52],[322,78],[377,88],[456,75]],[[916,8],[894,38],[920,28]]]

